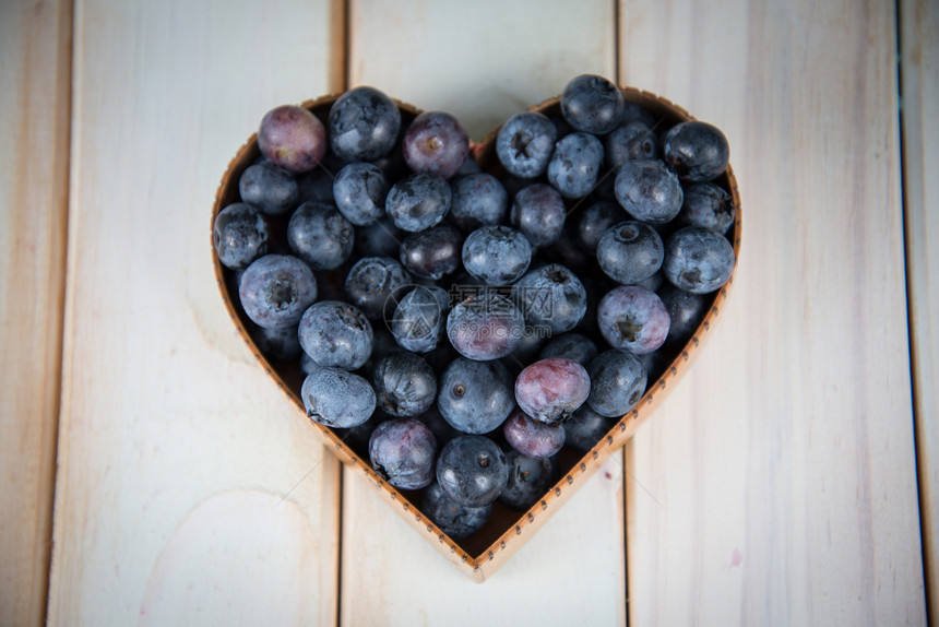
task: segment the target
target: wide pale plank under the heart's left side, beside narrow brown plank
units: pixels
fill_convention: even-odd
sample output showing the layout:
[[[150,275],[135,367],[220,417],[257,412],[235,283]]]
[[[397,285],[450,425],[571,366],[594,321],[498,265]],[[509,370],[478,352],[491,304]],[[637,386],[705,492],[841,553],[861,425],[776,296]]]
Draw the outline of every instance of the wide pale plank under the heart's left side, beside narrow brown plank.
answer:
[[[52,625],[330,624],[338,464],[215,285],[215,188],[335,90],[330,2],[75,7]]]

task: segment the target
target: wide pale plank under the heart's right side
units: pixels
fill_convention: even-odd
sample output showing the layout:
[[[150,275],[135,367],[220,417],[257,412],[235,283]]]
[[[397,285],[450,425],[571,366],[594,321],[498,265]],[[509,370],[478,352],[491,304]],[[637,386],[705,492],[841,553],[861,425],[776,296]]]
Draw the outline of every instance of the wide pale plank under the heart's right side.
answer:
[[[925,623],[892,3],[620,2],[621,81],[723,128],[734,294],[628,448],[637,625]]]

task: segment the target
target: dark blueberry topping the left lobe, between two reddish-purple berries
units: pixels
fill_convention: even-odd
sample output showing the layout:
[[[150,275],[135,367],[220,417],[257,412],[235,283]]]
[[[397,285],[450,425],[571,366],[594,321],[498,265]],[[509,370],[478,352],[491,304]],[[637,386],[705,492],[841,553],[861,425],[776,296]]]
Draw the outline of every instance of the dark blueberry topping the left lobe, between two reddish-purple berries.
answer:
[[[355,87],[336,98],[329,115],[330,145],[347,161],[375,161],[397,141],[401,111],[375,87]]]

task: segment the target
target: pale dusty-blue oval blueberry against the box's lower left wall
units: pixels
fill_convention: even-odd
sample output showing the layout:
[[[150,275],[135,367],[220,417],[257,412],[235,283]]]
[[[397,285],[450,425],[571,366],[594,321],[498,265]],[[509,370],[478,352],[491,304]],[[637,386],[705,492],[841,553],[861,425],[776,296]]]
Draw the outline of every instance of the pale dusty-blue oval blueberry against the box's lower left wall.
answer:
[[[341,368],[320,366],[300,387],[307,416],[328,427],[358,426],[375,412],[375,390],[368,381]]]

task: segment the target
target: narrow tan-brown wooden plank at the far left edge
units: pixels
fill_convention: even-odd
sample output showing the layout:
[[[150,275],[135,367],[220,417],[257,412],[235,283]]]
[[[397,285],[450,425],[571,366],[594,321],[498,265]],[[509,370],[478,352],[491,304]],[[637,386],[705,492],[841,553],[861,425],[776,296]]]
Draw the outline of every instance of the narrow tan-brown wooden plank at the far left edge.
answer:
[[[46,616],[62,350],[71,2],[0,5],[0,624]]]

